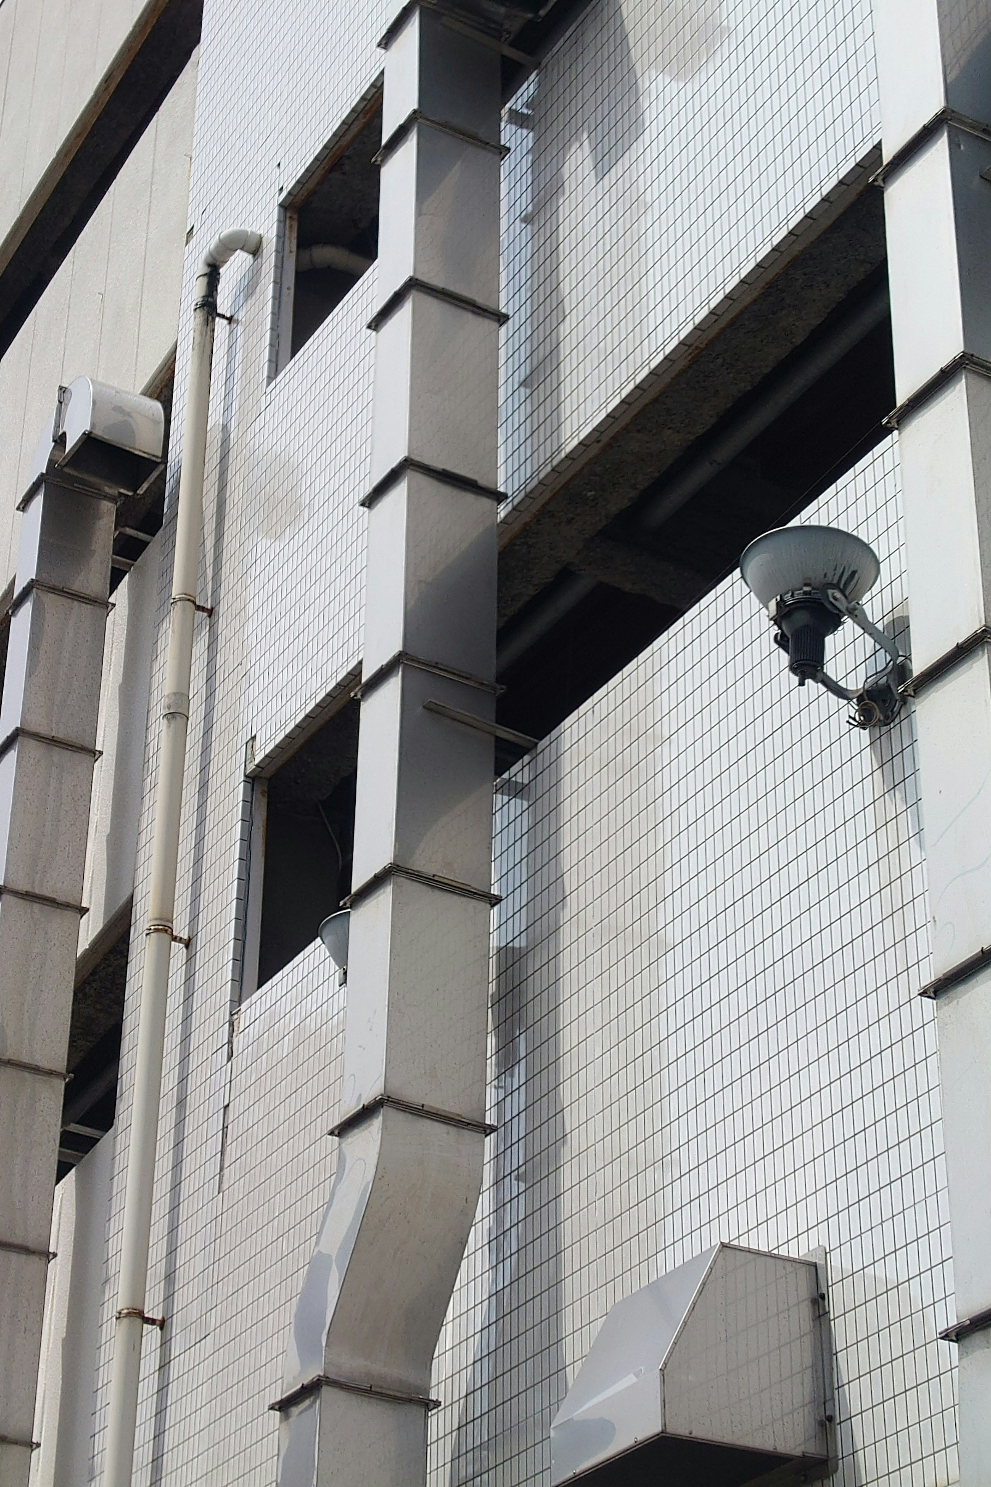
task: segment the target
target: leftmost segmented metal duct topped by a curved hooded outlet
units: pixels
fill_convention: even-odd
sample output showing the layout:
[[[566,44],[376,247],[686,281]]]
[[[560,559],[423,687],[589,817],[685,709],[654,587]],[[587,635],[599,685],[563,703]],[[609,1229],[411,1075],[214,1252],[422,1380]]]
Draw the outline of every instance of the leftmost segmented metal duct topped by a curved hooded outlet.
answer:
[[[114,510],[160,468],[157,403],[59,390],[21,501],[0,708],[0,1481],[28,1481]]]

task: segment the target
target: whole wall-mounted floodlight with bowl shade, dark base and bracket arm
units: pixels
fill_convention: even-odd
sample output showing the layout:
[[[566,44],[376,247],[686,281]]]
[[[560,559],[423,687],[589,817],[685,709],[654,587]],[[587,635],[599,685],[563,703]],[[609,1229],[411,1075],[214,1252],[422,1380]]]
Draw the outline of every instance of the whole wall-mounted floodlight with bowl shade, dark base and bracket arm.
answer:
[[[851,532],[834,526],[780,526],[764,532],[743,553],[740,572],[767,608],[777,644],[787,651],[798,686],[820,687],[853,703],[851,723],[872,729],[894,723],[912,671],[896,641],[874,625],[860,599],[877,583],[877,553]],[[826,636],[853,620],[887,653],[884,671],[853,691],[826,672]]]

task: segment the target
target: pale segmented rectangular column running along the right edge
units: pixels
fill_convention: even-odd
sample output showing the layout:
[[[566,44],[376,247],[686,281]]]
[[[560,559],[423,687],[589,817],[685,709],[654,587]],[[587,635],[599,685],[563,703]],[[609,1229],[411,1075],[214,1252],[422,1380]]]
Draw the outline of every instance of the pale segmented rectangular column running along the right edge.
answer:
[[[991,950],[985,949],[991,946],[991,0],[875,0],[874,9],[912,665],[920,678],[915,709],[935,956],[927,995],[936,1001],[939,1030],[957,1317],[967,1323],[955,1329],[960,1481],[985,1487],[991,1481]]]

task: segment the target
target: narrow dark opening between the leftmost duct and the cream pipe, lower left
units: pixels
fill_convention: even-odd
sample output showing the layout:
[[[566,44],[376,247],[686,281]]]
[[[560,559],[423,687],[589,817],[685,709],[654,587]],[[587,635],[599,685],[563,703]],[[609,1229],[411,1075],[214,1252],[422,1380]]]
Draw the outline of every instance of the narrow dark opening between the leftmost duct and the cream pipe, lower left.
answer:
[[[56,1181],[61,1182],[113,1126],[120,1025],[131,949],[131,900],[107,920],[76,962]]]

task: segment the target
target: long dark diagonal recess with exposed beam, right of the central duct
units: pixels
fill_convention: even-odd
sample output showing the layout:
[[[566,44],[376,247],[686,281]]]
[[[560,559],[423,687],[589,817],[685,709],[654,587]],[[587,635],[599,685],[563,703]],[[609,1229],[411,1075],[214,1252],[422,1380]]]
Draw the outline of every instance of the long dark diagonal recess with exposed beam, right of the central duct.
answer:
[[[504,517],[499,720],[510,727],[544,736],[713,587],[750,537],[884,437],[893,385],[881,193],[868,186],[877,164],[872,152]],[[851,324],[856,343],[842,349]],[[842,354],[802,385],[802,363],[831,336]],[[782,410],[793,373],[799,393]],[[648,509],[663,512],[666,491],[761,399],[776,416],[762,428],[758,416],[747,448],[651,523]]]

